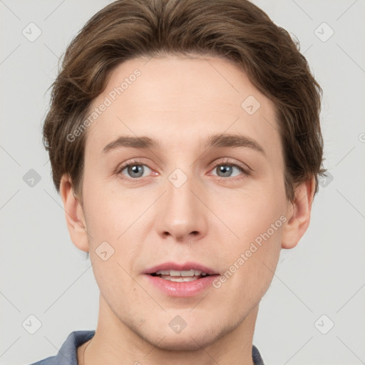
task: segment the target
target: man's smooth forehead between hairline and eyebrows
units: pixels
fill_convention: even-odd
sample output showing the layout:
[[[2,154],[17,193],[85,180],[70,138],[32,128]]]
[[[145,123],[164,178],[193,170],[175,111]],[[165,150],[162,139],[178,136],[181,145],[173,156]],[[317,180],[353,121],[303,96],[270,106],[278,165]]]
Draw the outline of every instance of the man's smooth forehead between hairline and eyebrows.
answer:
[[[221,58],[125,61],[110,73],[91,111],[95,108],[86,148],[102,149],[118,135],[148,135],[163,141],[161,148],[201,145],[204,136],[217,133],[248,135],[269,149],[280,143],[272,101],[238,66]]]

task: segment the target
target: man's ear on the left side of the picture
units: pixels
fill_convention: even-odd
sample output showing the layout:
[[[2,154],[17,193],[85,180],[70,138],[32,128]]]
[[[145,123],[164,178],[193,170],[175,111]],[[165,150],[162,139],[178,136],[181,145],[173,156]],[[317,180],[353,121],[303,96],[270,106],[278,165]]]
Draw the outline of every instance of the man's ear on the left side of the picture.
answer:
[[[88,232],[83,207],[73,193],[71,178],[68,174],[64,174],[61,178],[60,194],[71,241],[79,250],[88,252]]]

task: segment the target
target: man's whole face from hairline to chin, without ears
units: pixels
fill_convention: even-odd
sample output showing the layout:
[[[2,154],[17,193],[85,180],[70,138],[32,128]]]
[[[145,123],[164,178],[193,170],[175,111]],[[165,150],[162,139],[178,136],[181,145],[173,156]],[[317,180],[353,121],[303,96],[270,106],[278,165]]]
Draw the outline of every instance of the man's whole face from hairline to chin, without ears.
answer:
[[[166,56],[120,64],[97,107],[82,213],[99,321],[163,349],[212,344],[257,309],[279,257],[274,105],[228,61]]]

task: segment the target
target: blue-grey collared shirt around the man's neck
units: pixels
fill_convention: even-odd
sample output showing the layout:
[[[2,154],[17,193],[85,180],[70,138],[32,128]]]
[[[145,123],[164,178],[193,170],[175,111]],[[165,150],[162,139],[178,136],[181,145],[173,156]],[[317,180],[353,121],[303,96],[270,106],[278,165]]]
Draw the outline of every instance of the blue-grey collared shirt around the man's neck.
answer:
[[[77,365],[77,348],[91,339],[95,331],[73,331],[63,342],[56,356],[37,361],[31,365]],[[255,365],[264,365],[259,350],[252,345],[252,361]]]

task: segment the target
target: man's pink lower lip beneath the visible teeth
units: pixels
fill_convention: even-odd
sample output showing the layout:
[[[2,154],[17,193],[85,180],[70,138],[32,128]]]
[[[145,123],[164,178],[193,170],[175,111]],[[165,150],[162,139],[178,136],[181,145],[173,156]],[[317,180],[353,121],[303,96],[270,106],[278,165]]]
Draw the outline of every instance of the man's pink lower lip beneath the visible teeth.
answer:
[[[191,282],[171,282],[167,279],[145,274],[145,277],[147,277],[151,284],[171,297],[194,297],[197,294],[201,294],[212,285],[212,282],[218,276],[210,275],[201,279],[192,280]]]

